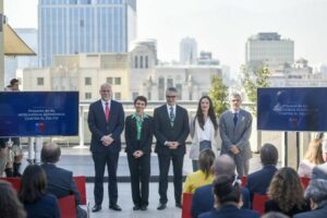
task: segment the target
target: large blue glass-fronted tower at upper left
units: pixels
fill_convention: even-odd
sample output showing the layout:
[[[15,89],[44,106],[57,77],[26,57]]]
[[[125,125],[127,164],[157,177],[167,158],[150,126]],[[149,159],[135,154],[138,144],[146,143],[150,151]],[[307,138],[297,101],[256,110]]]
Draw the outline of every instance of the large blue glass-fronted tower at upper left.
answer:
[[[55,55],[128,52],[136,37],[136,0],[39,0],[39,65]]]

